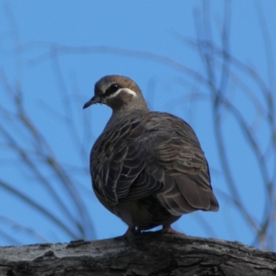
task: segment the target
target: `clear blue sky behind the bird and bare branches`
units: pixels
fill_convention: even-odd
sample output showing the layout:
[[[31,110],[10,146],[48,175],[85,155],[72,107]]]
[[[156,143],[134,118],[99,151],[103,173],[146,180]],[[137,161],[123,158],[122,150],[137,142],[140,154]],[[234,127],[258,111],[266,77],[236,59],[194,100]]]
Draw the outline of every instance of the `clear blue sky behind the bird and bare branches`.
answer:
[[[148,52],[166,57],[201,75],[206,74],[197,48],[188,43],[197,37],[195,18],[202,15],[203,1],[48,0],[0,3],[2,104],[7,110],[15,112],[14,103],[3,85],[3,79],[6,78],[12,91],[18,87],[21,89],[28,116],[48,141],[55,157],[68,172],[72,172],[70,177],[76,185],[76,193],[90,213],[94,227],[87,238],[115,237],[126,231],[126,225],[108,213],[93,195],[88,173],[90,148],[106,125],[111,111],[106,106],[92,106],[88,110],[82,110],[83,103],[93,95],[95,81],[104,75],[116,74],[134,79],[152,110],[171,112],[188,121],[197,132],[206,152],[213,188],[220,203],[219,213],[197,212],[186,215],[174,224],[174,228],[187,235],[212,236],[253,244],[255,237],[248,224],[224,197],[224,194],[229,194],[229,188],[215,144],[213,107],[208,88],[187,74],[184,68],[179,70],[164,60],[141,55],[141,52]],[[226,2],[210,1],[210,35],[217,45],[221,45],[224,3]],[[275,1],[235,0],[228,3],[231,54],[254,68],[269,83],[269,62],[259,16],[261,14],[265,19],[271,48],[275,49]],[[199,23],[199,28],[204,28],[204,21]],[[111,48],[130,52],[116,52]],[[273,55],[269,56],[270,63],[275,61],[275,52]],[[219,79],[219,65],[214,63],[213,66],[217,69]],[[244,72],[235,72],[239,72],[239,75],[231,76],[228,84],[229,99],[241,110],[246,120],[252,123],[256,115],[255,109],[244,93],[239,91],[239,78],[245,79],[246,85],[254,90],[254,97],[259,103],[265,104],[264,97]],[[271,88],[273,85],[270,83]],[[260,220],[266,212],[266,192],[258,165],[233,117],[228,116],[224,110],[221,112],[231,173],[245,206]],[[74,135],[65,126],[64,117],[68,116],[82,141],[84,157],[79,154]],[[17,137],[24,148],[32,150],[28,133],[22,130],[16,135],[17,130],[12,124],[16,125],[17,121],[5,117],[1,124],[6,127],[10,124],[8,129],[12,135]],[[257,137],[264,144],[269,141],[268,127],[262,122],[257,123]],[[0,142],[3,152],[0,160],[1,179],[64,220],[62,212],[45,188],[22,166],[17,155],[6,147],[7,141],[1,137]],[[271,160],[269,169],[272,175],[275,164],[272,157]],[[63,188],[55,185],[55,177],[48,172],[48,168],[39,165],[39,159],[37,164],[43,167],[43,174],[52,179],[52,186],[59,191],[60,198],[70,206],[70,198]],[[48,219],[5,190],[0,190],[0,201],[1,230],[16,235],[19,244],[70,240],[68,235],[55,228]],[[73,207],[72,214],[77,219]],[[8,217],[13,223],[8,223],[3,217]],[[202,220],[208,221],[212,230],[201,224]],[[16,227],[15,222],[20,227]],[[41,238],[32,237],[26,231],[22,233],[21,226],[34,230]],[[0,244],[12,243],[0,235]]]

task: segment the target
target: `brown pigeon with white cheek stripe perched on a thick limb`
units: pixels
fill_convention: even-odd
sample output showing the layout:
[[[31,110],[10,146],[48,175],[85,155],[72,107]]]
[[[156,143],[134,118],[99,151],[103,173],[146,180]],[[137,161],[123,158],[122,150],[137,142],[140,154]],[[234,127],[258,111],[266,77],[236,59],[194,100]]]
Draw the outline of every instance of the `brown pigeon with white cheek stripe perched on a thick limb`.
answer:
[[[112,115],[90,152],[92,189],[128,225],[125,235],[157,226],[178,233],[171,224],[181,215],[219,210],[204,151],[186,121],[150,111],[128,77],[102,77],[94,93],[83,109],[105,104]]]

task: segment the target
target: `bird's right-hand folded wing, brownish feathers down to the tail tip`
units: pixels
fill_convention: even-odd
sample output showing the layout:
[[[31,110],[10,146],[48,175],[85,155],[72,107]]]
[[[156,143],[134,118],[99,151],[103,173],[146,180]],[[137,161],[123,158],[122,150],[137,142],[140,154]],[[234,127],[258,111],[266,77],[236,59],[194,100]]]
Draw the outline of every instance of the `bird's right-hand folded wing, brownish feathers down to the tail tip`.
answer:
[[[161,204],[172,215],[218,210],[208,163],[193,129],[173,115],[152,113],[144,124],[146,132],[152,133],[144,144],[146,170],[164,184],[164,190],[157,193]]]

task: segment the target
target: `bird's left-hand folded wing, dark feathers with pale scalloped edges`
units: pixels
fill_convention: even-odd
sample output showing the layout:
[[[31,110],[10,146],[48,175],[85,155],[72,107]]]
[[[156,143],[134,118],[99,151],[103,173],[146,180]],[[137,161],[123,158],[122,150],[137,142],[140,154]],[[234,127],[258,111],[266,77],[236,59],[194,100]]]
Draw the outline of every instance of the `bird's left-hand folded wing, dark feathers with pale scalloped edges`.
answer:
[[[110,205],[144,198],[164,189],[164,184],[145,169],[146,152],[141,148],[144,131],[139,118],[124,121],[103,132],[92,148],[93,188]]]

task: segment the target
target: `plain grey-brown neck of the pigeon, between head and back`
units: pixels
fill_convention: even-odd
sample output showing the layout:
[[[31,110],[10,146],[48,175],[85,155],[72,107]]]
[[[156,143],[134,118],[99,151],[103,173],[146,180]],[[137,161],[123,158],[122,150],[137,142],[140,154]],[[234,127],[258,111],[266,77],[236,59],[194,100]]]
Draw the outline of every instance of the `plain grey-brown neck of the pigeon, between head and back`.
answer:
[[[126,119],[131,119],[132,117],[136,117],[138,115],[143,115],[146,112],[150,112],[148,106],[137,106],[133,108],[120,108],[119,110],[112,110],[112,115],[106,124],[106,128],[103,131],[110,130],[113,126],[118,124],[120,121],[124,121]]]

